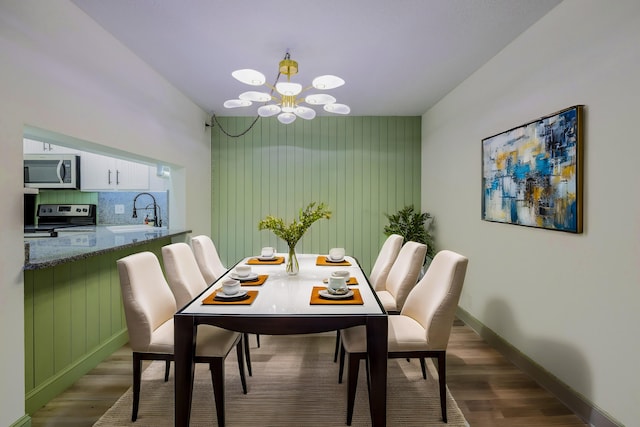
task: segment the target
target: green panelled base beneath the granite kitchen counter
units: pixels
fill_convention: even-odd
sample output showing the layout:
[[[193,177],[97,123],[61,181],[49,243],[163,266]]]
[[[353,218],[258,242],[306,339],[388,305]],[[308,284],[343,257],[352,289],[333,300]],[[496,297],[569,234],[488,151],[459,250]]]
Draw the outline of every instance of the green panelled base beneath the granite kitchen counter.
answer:
[[[33,414],[124,345],[127,325],[116,261],[171,238],[24,272],[25,407]]]

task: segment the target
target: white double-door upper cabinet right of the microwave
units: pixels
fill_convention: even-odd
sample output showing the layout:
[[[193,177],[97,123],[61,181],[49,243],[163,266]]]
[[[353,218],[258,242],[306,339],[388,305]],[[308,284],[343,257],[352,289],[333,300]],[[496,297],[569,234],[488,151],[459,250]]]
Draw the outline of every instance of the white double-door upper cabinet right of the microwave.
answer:
[[[145,164],[83,152],[80,165],[84,191],[149,189],[149,166]]]

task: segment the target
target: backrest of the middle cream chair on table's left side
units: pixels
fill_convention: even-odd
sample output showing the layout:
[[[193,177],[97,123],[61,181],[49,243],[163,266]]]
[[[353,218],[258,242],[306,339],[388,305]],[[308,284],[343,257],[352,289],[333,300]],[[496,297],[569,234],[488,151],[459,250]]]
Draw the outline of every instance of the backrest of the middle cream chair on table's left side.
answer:
[[[187,305],[207,288],[207,282],[200,273],[196,257],[186,243],[163,246],[162,260],[167,281],[176,297],[178,308]]]

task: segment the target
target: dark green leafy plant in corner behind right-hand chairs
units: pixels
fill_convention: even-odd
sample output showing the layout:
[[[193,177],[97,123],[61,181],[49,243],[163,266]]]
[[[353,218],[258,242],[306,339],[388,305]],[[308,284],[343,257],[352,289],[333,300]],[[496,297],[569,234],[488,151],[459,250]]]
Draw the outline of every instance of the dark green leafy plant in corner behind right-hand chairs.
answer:
[[[384,227],[384,234],[399,234],[404,237],[404,241],[414,241],[427,245],[427,256],[433,258],[436,249],[433,243],[433,236],[429,233],[431,222],[428,226],[425,223],[433,216],[428,212],[415,212],[413,205],[405,206],[393,215],[385,214],[389,224]]]

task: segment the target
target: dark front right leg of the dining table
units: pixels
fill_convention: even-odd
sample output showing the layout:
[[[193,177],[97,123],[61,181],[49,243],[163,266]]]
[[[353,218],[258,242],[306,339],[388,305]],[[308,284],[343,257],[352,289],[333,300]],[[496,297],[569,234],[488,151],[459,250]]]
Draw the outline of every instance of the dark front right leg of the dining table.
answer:
[[[369,360],[369,409],[371,425],[387,425],[387,334],[386,316],[372,316],[367,320],[367,357]]]

